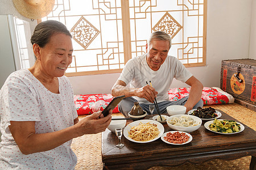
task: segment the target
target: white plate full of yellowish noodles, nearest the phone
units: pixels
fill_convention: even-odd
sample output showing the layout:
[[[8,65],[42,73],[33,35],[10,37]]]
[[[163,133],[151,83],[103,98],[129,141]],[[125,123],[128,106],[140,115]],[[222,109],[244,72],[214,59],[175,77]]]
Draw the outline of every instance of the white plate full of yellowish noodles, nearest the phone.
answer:
[[[131,122],[123,130],[123,135],[131,142],[148,143],[160,138],[164,127],[155,120],[138,120]]]

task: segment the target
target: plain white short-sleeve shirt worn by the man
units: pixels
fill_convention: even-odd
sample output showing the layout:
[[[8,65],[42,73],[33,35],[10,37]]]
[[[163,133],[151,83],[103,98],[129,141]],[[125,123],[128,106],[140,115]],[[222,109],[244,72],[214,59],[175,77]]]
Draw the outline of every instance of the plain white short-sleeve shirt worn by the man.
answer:
[[[179,59],[167,56],[164,63],[160,66],[159,70],[154,71],[150,69],[146,61],[147,54],[130,59],[118,80],[122,80],[130,87],[141,88],[146,86],[146,81],[149,83],[151,80],[152,87],[158,92],[156,100],[160,103],[169,99],[168,90],[170,89],[172,79],[186,82],[191,78],[192,74],[185,68]],[[150,104],[144,98],[134,96],[139,103]]]

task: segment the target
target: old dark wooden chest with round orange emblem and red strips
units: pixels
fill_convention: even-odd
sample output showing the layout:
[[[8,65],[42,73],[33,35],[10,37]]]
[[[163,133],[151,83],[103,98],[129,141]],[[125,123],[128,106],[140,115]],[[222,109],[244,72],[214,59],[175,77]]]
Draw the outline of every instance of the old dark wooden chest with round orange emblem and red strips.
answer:
[[[221,62],[220,88],[235,102],[256,111],[256,60],[229,59]]]

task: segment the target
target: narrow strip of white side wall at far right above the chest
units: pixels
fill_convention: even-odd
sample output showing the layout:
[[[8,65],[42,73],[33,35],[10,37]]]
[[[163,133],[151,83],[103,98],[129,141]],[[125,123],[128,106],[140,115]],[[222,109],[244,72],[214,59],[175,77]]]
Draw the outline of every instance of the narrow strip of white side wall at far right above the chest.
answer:
[[[251,5],[251,33],[250,33],[249,58],[256,59],[256,1],[255,0],[253,0]]]

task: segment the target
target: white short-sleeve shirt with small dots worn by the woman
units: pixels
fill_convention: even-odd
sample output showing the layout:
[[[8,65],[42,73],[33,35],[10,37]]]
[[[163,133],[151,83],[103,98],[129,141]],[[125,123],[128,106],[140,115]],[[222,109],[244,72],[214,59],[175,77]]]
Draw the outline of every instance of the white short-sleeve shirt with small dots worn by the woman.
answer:
[[[74,169],[77,163],[71,141],[49,151],[24,155],[9,130],[10,121],[35,121],[37,134],[68,128],[77,117],[73,90],[66,76],[59,79],[59,92],[47,90],[29,70],[12,73],[0,91],[0,169]]]

